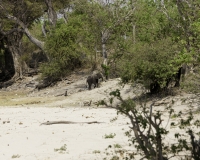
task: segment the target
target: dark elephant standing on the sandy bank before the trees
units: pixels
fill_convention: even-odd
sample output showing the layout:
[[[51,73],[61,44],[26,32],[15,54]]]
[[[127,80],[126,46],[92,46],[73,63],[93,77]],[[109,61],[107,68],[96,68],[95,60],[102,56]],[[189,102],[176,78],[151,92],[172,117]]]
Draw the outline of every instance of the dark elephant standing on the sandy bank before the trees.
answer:
[[[101,73],[95,73],[88,76],[86,83],[88,83],[89,90],[91,90],[92,84],[94,84],[94,88],[99,87],[99,79],[102,79],[103,81],[103,75]]]

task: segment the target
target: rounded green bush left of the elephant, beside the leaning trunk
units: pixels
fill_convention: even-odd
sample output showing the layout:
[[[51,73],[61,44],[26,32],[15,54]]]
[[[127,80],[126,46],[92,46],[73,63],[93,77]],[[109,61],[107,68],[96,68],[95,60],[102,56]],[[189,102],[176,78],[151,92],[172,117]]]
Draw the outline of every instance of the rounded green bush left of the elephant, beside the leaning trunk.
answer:
[[[60,20],[56,28],[48,35],[45,52],[49,61],[40,66],[44,77],[58,79],[81,66],[84,53],[80,51],[78,43],[81,28],[79,22],[72,21],[65,24]]]

